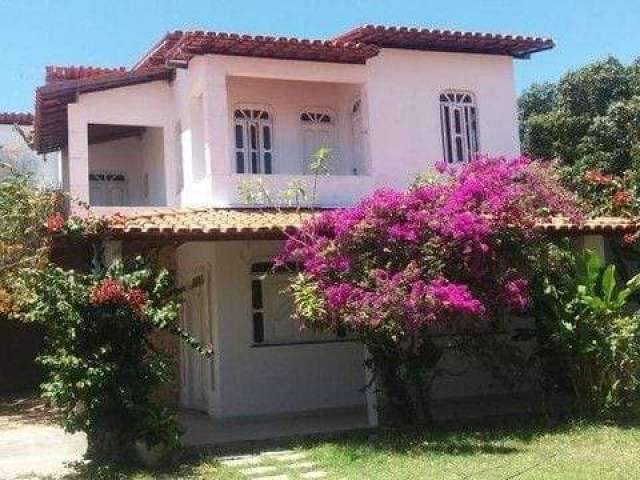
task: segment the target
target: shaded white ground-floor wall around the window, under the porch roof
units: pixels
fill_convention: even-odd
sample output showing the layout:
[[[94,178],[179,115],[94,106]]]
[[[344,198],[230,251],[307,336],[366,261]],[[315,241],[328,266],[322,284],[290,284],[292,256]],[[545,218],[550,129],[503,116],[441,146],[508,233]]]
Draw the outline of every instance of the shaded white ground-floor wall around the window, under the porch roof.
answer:
[[[250,264],[270,258],[278,242],[191,243],[178,249],[180,268],[211,264],[219,417],[363,406],[362,347],[350,342],[252,345]]]

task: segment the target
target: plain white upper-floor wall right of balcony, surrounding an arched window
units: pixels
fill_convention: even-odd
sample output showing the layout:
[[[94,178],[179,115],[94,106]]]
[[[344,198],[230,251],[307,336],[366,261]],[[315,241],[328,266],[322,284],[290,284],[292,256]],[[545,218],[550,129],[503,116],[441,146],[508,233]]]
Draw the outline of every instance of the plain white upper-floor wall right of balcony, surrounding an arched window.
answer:
[[[443,159],[439,95],[472,92],[480,151],[519,152],[511,57],[383,49],[367,63],[369,139],[377,182],[403,188]]]

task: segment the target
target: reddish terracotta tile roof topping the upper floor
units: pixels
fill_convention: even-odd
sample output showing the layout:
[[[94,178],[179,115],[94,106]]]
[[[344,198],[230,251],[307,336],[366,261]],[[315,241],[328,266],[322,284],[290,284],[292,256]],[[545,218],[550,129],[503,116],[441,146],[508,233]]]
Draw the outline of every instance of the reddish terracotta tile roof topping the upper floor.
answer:
[[[178,30],[167,33],[131,70],[123,67],[47,67],[47,83],[36,91],[35,146],[40,153],[65,146],[67,104],[76,101],[78,94],[131,85],[135,81],[152,81],[157,78],[144,75],[159,70],[164,70],[164,75],[169,78],[167,67],[186,66],[195,55],[364,64],[385,47],[526,57],[553,45],[552,40],[539,37],[375,25],[356,28],[332,40]],[[100,83],[102,80],[105,82]],[[59,91],[47,89],[56,85],[60,86]]]

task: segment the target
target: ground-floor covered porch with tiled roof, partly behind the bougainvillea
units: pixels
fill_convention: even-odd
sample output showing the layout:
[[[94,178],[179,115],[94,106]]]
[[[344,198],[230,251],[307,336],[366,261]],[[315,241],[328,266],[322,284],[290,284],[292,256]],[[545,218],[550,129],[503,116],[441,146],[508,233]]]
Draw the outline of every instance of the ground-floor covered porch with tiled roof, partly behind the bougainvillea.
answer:
[[[364,391],[369,379],[362,348],[341,339],[290,341],[295,332],[269,323],[264,297],[255,303],[254,282],[262,279],[262,271],[252,266],[271,258],[283,231],[295,229],[312,214],[165,209],[111,226],[112,238],[128,240],[123,242],[127,249],[136,240],[177,245],[178,274],[200,277],[186,307],[190,313],[185,327],[201,341],[211,342],[216,355],[209,362],[182,352],[179,387],[187,444],[257,441],[377,425],[375,395]],[[536,228],[550,235],[574,236],[585,246],[604,251],[607,236],[636,226],[622,219],[598,219],[580,225],[557,220]],[[263,283],[260,289],[272,286]],[[276,306],[276,311],[283,307]],[[281,341],[283,336],[287,341]],[[527,392],[520,398],[489,400],[491,392],[477,396],[471,383],[459,385],[463,389],[459,394],[446,389],[448,396],[434,405],[436,416],[461,420],[470,412],[472,416],[526,412]]]

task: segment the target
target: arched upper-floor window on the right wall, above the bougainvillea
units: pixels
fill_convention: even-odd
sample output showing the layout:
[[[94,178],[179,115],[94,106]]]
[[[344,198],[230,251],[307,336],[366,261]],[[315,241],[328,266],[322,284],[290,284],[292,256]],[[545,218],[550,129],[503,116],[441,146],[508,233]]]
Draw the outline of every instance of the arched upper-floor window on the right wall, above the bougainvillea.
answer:
[[[442,148],[447,163],[468,162],[479,151],[478,108],[471,93],[440,94]]]

